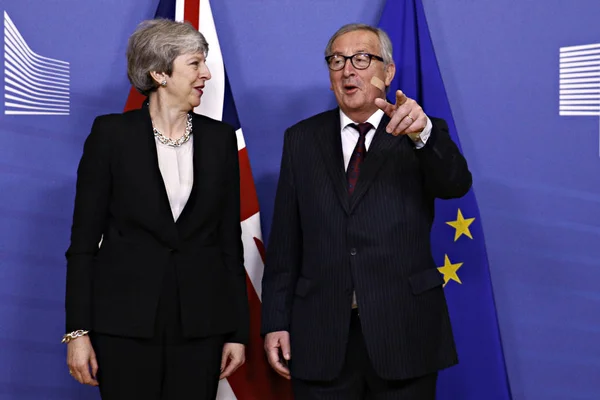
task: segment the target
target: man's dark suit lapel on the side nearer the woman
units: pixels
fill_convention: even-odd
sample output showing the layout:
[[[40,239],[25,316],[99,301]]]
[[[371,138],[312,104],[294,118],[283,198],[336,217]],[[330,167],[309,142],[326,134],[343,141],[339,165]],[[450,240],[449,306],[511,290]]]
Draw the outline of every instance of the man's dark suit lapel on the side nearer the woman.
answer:
[[[333,189],[338,196],[344,210],[349,213],[348,189],[346,172],[344,171],[344,157],[342,154],[342,137],[340,134],[339,110],[330,112],[328,122],[315,130],[316,141],[323,156],[325,169],[331,178]]]

